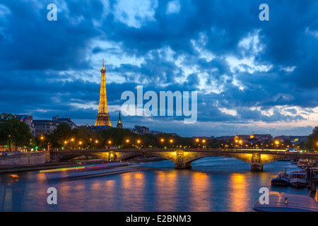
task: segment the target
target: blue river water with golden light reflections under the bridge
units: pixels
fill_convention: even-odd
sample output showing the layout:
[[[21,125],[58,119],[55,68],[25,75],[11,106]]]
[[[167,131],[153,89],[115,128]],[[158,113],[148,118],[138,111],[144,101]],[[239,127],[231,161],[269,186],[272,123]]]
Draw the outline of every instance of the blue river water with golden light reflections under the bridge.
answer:
[[[225,157],[205,157],[192,169],[174,169],[170,161],[136,163],[134,172],[88,179],[47,179],[37,172],[0,174],[0,211],[120,211],[120,212],[249,212],[259,189],[308,195],[308,189],[273,188],[271,177],[290,162],[249,164]],[[57,205],[47,204],[47,189],[57,189]]]

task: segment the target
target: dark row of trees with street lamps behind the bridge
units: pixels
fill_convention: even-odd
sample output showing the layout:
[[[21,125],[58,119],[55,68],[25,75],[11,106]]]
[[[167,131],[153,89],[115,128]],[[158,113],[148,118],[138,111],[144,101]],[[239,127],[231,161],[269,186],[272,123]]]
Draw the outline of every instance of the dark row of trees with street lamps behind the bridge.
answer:
[[[273,141],[256,143],[258,148],[271,148]],[[285,147],[290,144],[285,141]],[[109,145],[118,148],[235,148],[235,141],[218,141],[217,139],[194,139],[172,136],[170,133],[137,134],[129,129],[111,128],[103,131],[91,131],[88,126],[71,129],[66,123],[59,124],[50,134],[35,138],[29,126],[16,119],[12,114],[0,115],[0,145],[26,147],[28,149],[103,149]],[[239,145],[240,147],[240,145]],[[241,145],[245,148],[245,145]],[[304,150],[318,150],[318,126],[307,141],[300,144]]]

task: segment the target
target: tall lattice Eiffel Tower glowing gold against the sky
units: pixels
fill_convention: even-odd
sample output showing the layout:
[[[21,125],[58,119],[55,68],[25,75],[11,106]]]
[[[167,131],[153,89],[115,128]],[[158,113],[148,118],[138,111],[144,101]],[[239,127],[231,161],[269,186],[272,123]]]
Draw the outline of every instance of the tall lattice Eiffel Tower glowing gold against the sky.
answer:
[[[106,94],[106,69],[104,66],[104,59],[102,59],[102,80],[100,83],[100,107],[98,109],[98,116],[95,126],[112,126],[110,122],[110,115],[108,114],[107,107],[107,94]]]

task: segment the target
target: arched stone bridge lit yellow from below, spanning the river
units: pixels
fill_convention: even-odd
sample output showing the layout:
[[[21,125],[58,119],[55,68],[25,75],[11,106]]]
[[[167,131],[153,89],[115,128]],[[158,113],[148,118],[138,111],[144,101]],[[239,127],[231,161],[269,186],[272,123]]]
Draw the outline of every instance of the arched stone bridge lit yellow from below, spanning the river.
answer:
[[[82,155],[93,156],[110,162],[130,160],[138,156],[162,157],[175,163],[175,169],[191,169],[192,162],[203,157],[233,157],[249,163],[252,171],[262,171],[263,166],[270,162],[309,159],[318,160],[316,153],[286,153],[283,150],[172,150],[172,149],[115,149],[115,150],[59,150],[51,151],[51,160],[71,160]]]

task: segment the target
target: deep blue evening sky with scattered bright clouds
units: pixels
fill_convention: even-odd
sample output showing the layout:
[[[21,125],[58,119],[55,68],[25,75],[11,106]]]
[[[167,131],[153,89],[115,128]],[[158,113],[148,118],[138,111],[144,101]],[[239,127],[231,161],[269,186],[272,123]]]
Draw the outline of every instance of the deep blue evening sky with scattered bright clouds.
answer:
[[[198,119],[122,117],[126,128],[307,135],[318,126],[317,51],[316,0],[2,0],[0,112],[95,124],[105,59],[114,125],[122,93],[143,85],[197,91]]]

